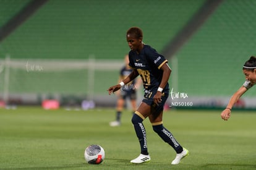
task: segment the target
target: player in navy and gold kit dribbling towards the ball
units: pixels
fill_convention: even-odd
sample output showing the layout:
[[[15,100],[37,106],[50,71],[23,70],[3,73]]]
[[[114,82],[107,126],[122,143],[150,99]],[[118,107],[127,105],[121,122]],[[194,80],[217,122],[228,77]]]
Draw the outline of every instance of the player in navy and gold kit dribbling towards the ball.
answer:
[[[147,135],[143,120],[148,117],[153,130],[164,142],[174,148],[177,155],[171,164],[179,164],[182,158],[189,154],[186,148],[181,147],[173,134],[163,126],[163,106],[169,95],[168,79],[171,69],[167,60],[161,54],[142,42],[143,33],[138,27],[129,28],[126,40],[129,48],[129,66],[133,71],[118,85],[108,88],[108,93],[114,93],[122,86],[140,75],[144,87],[144,99],[132,117],[132,124],[140,143],[140,155],[130,163],[145,163],[150,161],[147,147]]]

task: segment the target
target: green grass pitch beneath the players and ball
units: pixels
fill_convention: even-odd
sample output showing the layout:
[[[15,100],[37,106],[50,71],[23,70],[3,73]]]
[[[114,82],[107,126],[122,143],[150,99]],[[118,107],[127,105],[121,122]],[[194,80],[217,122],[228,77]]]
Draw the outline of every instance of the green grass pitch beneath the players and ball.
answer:
[[[165,111],[164,126],[190,151],[180,164],[171,165],[176,153],[148,119],[143,123],[151,161],[129,163],[140,149],[128,110],[121,127],[109,127],[114,109],[0,109],[0,169],[256,169],[256,113],[233,111],[227,122],[220,113]],[[83,152],[91,144],[105,149],[103,163],[85,163]]]

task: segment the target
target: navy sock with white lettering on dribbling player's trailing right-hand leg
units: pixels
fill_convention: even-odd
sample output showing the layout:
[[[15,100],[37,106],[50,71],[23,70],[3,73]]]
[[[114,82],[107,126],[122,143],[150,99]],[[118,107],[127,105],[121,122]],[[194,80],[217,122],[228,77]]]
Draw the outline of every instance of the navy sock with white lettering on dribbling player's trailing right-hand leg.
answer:
[[[171,145],[171,147],[174,148],[176,153],[181,153],[183,151],[183,148],[181,147],[181,145],[179,145],[177,140],[173,137],[173,134],[171,134],[169,130],[165,129],[163,127],[163,124],[153,125],[153,130],[156,132],[156,134],[158,134],[164,140],[164,142]]]

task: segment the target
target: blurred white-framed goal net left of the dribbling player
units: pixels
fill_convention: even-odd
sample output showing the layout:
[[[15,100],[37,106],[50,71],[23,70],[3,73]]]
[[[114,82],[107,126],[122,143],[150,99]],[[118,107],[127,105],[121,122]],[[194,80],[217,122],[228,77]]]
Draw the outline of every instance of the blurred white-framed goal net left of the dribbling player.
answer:
[[[107,93],[117,83],[123,60],[6,59],[0,61],[0,100],[30,100]],[[15,97],[14,97],[15,96]]]

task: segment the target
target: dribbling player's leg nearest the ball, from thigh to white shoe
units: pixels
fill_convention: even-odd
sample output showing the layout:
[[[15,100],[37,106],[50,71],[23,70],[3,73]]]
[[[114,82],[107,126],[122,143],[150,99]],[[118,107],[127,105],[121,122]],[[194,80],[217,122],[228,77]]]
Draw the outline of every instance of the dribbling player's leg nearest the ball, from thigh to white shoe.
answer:
[[[134,130],[140,143],[140,155],[137,158],[132,159],[130,161],[131,163],[145,163],[150,161],[150,156],[148,155],[146,129],[142,123],[143,120],[148,117],[149,113],[150,105],[142,102],[140,103],[137,111],[135,111],[134,116],[132,116],[132,124],[134,125]]]

